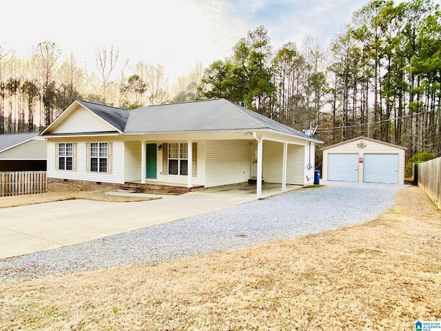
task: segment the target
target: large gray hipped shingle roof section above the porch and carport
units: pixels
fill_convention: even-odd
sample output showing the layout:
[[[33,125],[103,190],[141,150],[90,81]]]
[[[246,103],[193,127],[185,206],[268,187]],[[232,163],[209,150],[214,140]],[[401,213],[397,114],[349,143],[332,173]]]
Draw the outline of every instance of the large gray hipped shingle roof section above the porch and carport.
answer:
[[[125,133],[271,129],[314,139],[225,99],[171,103],[130,110]]]

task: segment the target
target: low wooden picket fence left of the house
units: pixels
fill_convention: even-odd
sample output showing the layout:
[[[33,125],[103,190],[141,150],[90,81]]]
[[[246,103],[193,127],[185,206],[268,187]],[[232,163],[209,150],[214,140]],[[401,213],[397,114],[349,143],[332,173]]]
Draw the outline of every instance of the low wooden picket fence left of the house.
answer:
[[[45,171],[0,172],[0,197],[43,193],[48,190]]]

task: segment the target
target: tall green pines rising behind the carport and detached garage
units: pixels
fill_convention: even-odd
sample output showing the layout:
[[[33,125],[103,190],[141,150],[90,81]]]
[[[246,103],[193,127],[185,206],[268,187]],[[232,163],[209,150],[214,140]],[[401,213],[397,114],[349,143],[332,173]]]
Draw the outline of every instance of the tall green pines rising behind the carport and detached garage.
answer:
[[[373,0],[329,50],[307,36],[274,54],[259,26],[215,61],[202,97],[225,97],[327,145],[365,136],[441,154],[441,12],[429,0]]]

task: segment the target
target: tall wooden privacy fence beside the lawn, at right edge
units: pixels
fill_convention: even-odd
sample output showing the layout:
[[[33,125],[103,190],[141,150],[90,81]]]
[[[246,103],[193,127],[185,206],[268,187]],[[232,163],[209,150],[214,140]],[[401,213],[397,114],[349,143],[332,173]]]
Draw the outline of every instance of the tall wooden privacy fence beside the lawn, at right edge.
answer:
[[[441,157],[416,164],[416,182],[441,209]]]

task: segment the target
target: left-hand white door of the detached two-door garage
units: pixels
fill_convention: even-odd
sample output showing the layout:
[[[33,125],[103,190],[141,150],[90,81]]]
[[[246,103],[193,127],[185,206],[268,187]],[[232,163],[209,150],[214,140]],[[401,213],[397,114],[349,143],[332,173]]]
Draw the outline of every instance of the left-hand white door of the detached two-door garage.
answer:
[[[328,154],[328,181],[358,181],[358,154]]]

